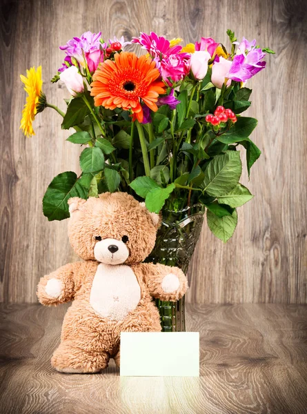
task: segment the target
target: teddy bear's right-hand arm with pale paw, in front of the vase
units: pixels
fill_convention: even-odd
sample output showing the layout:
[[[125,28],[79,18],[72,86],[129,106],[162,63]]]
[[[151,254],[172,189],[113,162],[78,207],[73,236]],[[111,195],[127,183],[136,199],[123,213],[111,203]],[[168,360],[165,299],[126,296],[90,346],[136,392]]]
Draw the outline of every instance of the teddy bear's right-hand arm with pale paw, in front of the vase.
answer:
[[[175,302],[186,293],[188,279],[179,268],[152,263],[143,263],[141,266],[146,285],[153,297]]]

